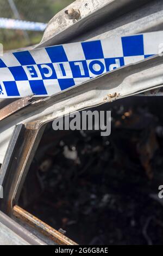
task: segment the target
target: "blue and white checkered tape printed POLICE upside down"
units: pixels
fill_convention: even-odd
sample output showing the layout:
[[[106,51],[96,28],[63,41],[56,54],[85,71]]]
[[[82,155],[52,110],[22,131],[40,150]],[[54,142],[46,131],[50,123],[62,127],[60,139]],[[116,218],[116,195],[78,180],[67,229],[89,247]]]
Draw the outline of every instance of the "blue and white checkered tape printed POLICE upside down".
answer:
[[[161,31],[5,53],[0,58],[0,98],[51,96],[156,55],[162,43]]]

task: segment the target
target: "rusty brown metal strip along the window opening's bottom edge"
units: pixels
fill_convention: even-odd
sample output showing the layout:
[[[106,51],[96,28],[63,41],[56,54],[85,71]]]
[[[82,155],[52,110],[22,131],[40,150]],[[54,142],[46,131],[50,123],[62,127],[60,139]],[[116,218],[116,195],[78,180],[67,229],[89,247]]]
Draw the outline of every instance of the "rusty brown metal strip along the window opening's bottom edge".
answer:
[[[48,236],[58,245],[77,245],[77,243],[68,239],[68,237],[62,235],[57,230],[51,228],[49,225],[40,221],[40,219],[37,219],[35,216],[17,205],[13,208],[13,214],[16,218],[21,219],[23,222],[28,223],[31,227],[39,230],[43,235]]]

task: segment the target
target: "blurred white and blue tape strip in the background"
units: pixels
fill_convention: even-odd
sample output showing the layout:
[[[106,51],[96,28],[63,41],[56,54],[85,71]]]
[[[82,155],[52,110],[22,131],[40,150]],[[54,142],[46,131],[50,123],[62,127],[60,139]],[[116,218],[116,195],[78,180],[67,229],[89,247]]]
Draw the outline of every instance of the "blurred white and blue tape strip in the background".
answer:
[[[0,28],[21,29],[28,31],[44,31],[47,24],[23,20],[0,18]]]

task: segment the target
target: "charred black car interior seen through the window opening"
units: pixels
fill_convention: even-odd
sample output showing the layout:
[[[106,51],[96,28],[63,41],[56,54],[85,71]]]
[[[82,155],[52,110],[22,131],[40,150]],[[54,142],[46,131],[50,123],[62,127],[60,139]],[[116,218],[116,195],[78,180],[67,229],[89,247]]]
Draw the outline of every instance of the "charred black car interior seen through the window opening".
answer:
[[[161,245],[162,99],[105,104],[111,135],[46,127],[19,205],[82,245]]]

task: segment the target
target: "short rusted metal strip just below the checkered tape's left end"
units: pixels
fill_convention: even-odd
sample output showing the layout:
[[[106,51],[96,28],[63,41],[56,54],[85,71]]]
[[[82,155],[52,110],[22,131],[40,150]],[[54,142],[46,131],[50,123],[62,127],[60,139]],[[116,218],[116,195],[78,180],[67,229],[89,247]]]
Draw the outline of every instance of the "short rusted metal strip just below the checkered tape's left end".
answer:
[[[15,114],[15,112],[25,108],[32,102],[33,96],[27,96],[10,103],[9,105],[5,106],[3,109],[0,110],[0,121],[11,116],[12,114]]]

